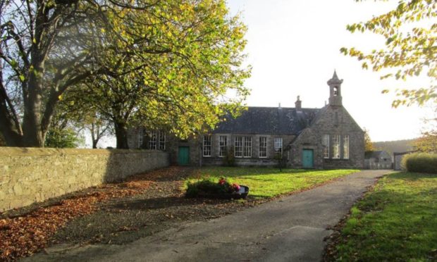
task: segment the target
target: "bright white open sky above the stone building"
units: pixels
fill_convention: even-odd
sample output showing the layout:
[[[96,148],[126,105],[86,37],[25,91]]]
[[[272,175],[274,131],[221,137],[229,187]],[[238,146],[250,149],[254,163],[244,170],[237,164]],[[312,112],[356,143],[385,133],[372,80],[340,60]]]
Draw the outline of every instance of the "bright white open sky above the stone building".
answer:
[[[363,70],[356,58],[340,54],[340,48],[364,50],[383,47],[383,38],[367,33],[351,34],[346,25],[386,13],[398,1],[354,0],[228,0],[232,15],[247,25],[247,64],[252,76],[245,82],[252,90],[247,106],[321,108],[328,100],[326,82],[334,69],[343,79],[343,106],[358,125],[369,130],[371,140],[389,141],[420,136],[423,118],[430,108],[391,108],[394,90],[425,84],[426,77],[410,83],[380,80],[380,73]],[[383,89],[393,92],[381,94]]]

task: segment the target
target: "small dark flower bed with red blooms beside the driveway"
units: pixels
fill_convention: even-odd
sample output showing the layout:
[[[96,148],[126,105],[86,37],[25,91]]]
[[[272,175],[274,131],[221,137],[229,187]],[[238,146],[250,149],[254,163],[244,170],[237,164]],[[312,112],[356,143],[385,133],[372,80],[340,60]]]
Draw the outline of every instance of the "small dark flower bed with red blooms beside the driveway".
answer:
[[[210,179],[187,183],[187,197],[204,197],[211,199],[244,199],[249,193],[249,187],[230,183],[224,177],[219,182]]]

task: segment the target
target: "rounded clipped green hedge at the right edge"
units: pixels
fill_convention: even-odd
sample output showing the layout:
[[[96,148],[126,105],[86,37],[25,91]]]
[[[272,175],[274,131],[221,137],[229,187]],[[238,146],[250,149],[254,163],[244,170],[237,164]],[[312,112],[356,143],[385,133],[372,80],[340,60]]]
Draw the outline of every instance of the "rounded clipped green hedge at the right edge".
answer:
[[[409,172],[437,174],[437,154],[409,154],[402,158],[402,166]]]

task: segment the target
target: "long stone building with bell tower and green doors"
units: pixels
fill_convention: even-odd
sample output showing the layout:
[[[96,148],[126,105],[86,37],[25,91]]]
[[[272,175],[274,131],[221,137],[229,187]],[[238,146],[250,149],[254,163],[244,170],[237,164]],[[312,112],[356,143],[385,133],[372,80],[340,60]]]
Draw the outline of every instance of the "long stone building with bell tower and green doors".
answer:
[[[130,130],[130,148],[168,151],[171,163],[293,168],[363,168],[364,132],[343,107],[341,84],[334,71],[328,80],[329,103],[323,108],[248,107],[238,118],[187,140],[164,132]]]

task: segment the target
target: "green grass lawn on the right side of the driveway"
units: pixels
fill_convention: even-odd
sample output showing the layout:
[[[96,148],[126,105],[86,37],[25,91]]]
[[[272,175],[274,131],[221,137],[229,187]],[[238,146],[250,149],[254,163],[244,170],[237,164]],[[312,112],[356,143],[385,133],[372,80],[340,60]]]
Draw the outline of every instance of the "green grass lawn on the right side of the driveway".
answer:
[[[336,260],[437,260],[437,175],[387,175],[351,213]]]

